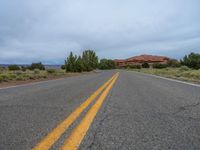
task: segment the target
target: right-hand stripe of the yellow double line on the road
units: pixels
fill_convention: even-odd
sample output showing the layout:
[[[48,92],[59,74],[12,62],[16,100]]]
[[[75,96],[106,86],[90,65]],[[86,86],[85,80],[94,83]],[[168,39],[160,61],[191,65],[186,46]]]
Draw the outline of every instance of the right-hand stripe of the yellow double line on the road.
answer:
[[[71,135],[66,139],[60,150],[77,150],[84,136],[86,135],[91,123],[93,122],[97,112],[101,108],[105,98],[107,97],[112,86],[116,82],[117,76],[108,85],[105,91],[101,94],[96,103],[90,108],[85,117],[82,119],[80,124],[72,131]]]

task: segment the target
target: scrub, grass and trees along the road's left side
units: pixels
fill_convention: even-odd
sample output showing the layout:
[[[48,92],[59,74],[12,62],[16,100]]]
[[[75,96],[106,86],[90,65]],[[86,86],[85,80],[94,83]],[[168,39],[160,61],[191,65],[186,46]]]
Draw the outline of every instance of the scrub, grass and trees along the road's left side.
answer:
[[[114,69],[115,63],[109,59],[99,61],[93,50],[83,51],[81,56],[72,52],[60,68],[45,68],[41,62],[31,65],[12,64],[7,67],[0,66],[0,84],[18,81],[49,80],[60,77],[79,75],[95,69]]]

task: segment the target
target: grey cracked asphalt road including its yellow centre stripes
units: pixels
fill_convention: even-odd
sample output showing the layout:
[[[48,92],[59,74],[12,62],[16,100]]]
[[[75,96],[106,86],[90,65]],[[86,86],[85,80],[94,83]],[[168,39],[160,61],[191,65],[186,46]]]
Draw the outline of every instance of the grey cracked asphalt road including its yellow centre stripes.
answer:
[[[42,144],[52,150],[200,149],[200,87],[116,70],[0,89],[0,149]]]

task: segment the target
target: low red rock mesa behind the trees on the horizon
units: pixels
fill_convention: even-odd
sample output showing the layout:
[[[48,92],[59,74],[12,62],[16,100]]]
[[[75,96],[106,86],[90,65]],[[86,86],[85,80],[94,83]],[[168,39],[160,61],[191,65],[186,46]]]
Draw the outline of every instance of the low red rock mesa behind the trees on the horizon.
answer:
[[[167,64],[170,58],[165,56],[155,56],[155,55],[139,55],[130,57],[127,59],[115,59],[114,62],[118,67],[126,67],[131,65],[142,65],[143,63],[148,63],[153,65],[154,63]]]

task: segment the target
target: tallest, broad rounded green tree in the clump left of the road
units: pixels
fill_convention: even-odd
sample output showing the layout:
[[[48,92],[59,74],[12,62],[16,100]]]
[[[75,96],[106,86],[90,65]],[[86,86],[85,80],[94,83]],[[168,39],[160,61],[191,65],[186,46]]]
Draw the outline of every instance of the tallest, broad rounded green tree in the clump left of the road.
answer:
[[[98,57],[93,50],[85,50],[82,54],[83,70],[92,71],[98,66]]]

